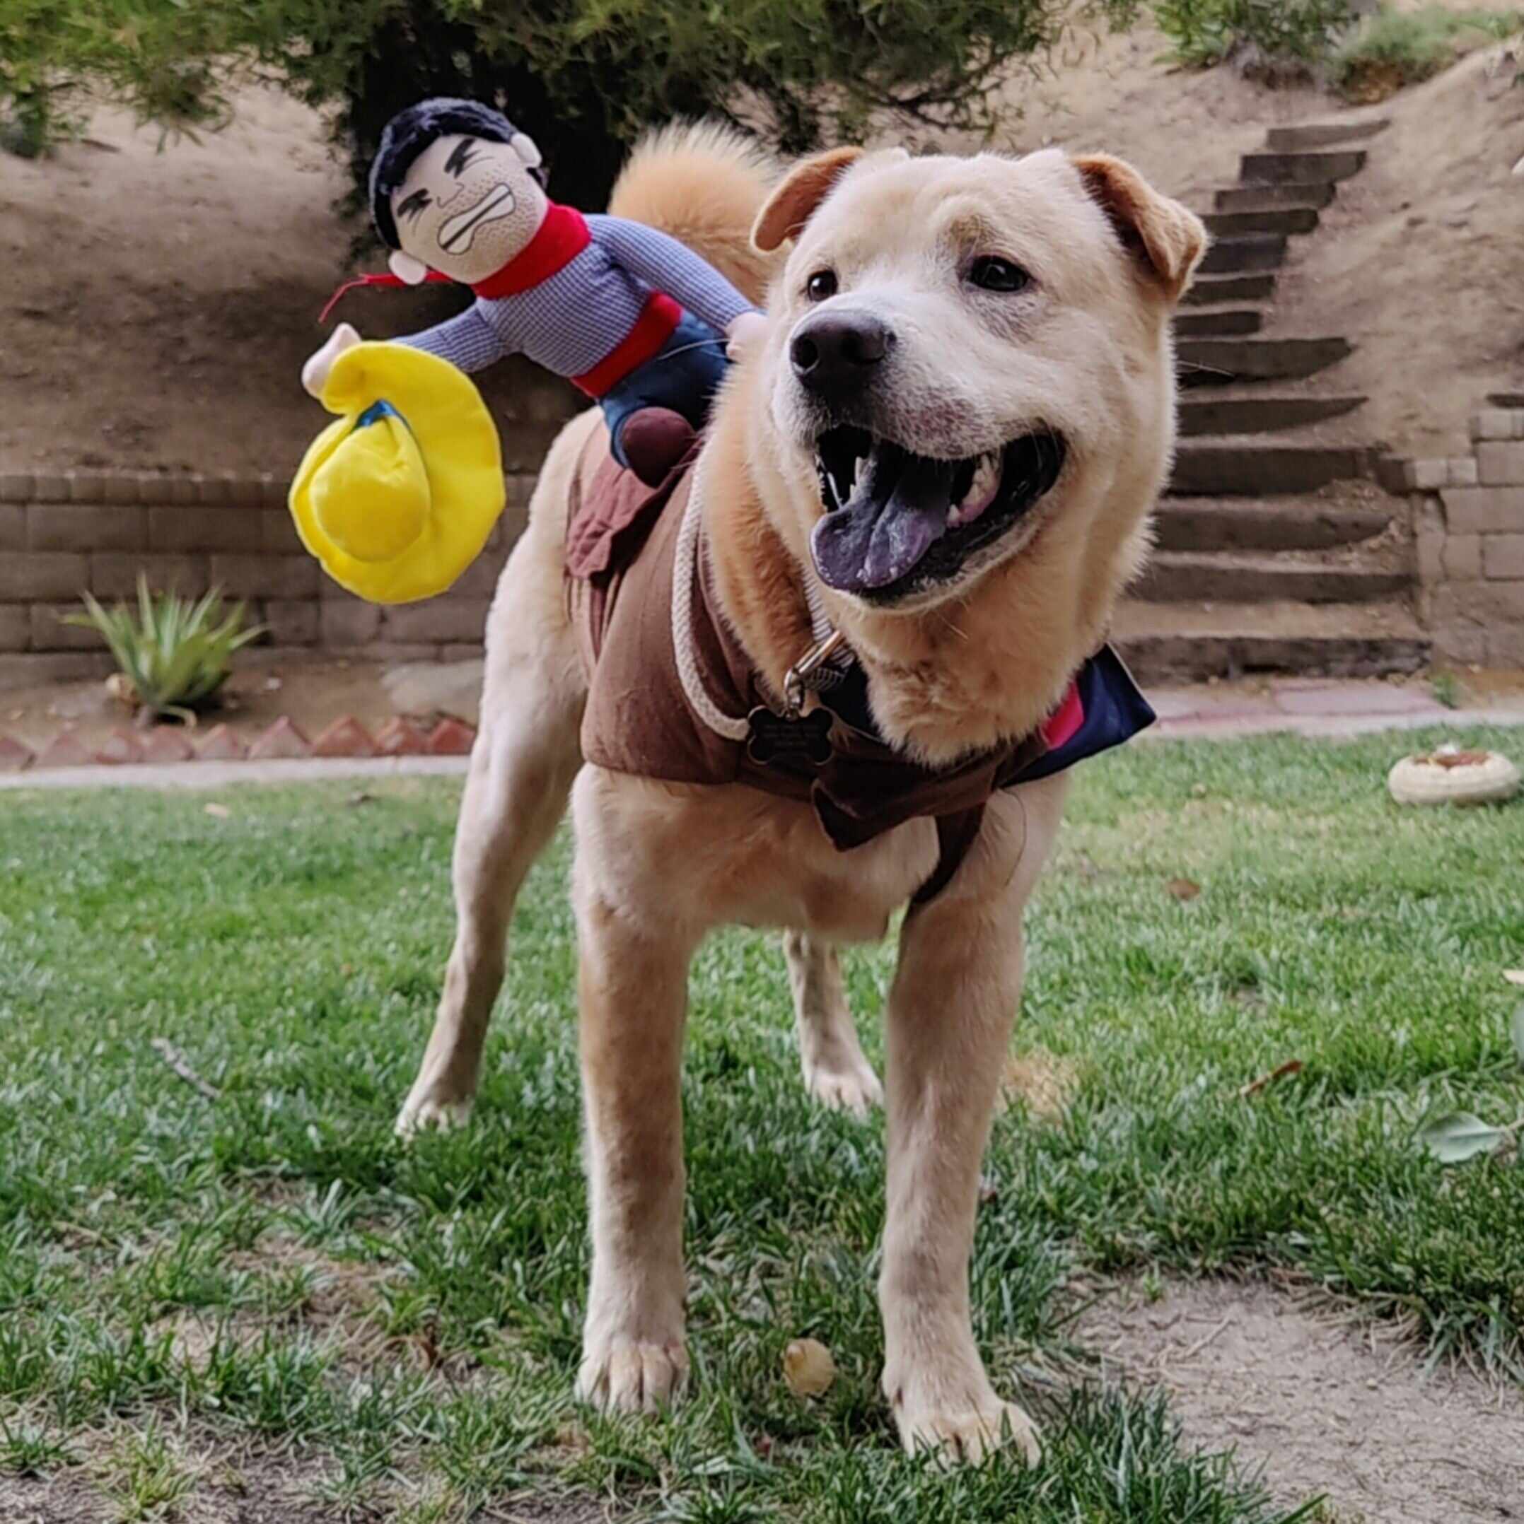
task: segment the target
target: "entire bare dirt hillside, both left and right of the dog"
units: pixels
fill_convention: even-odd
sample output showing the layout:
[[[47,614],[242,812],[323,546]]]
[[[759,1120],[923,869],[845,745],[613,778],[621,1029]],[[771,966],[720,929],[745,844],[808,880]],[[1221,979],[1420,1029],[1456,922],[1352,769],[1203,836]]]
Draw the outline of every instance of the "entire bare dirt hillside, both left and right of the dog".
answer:
[[[1106,148],[1198,206],[1268,125],[1346,108],[1312,87],[1266,90],[1230,67],[1160,61],[1163,38],[1076,38],[1018,79],[997,146]],[[1410,454],[1458,448],[1487,390],[1524,389],[1524,88],[1489,53],[1361,114],[1390,114],[1366,172],[1297,247],[1273,332],[1347,334],[1330,375],[1372,396],[1369,437]],[[959,145],[972,146],[972,145]],[[299,389],[317,311],[354,227],[320,120],[273,90],[200,143],[102,110],[84,142],[0,154],[0,468],[290,469],[323,415]],[[386,337],[450,297],[355,293],[344,315]],[[530,460],[568,395],[530,367],[486,383],[509,453]]]

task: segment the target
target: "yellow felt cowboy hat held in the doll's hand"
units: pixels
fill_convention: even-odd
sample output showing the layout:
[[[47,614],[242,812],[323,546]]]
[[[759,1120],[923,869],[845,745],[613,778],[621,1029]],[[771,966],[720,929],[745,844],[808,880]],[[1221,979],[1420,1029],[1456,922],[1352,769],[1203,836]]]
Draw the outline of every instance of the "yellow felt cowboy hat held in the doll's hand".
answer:
[[[407,344],[355,344],[328,372],[338,413],[291,483],[302,544],[372,604],[443,593],[503,512],[497,428],[448,360]]]

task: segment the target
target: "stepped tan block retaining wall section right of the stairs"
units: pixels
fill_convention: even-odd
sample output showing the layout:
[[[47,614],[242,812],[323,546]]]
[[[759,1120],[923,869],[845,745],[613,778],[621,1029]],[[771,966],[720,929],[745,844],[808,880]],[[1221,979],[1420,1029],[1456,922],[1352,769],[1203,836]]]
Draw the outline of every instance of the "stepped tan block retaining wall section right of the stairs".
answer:
[[[1490,398],[1516,402],[1518,398]],[[1524,666],[1524,405],[1471,419],[1471,454],[1391,465],[1413,494],[1419,617],[1442,661]]]

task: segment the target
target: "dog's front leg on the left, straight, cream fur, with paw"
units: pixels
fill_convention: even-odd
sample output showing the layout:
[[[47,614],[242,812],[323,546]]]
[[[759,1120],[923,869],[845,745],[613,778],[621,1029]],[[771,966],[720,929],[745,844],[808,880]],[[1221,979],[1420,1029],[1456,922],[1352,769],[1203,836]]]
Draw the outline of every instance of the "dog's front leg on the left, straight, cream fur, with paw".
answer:
[[[578,942],[593,1279],[576,1390],[649,1413],[687,1381],[678,1084],[692,939],[582,882]]]

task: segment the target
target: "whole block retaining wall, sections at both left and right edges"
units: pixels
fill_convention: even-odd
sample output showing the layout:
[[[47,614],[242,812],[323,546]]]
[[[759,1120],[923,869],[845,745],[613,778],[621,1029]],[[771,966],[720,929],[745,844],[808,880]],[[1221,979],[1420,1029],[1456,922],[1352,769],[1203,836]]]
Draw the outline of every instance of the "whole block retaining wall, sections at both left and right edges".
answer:
[[[1489,401],[1472,419],[1471,454],[1388,459],[1379,474],[1413,498],[1419,617],[1436,658],[1512,668],[1524,666],[1524,396]],[[507,477],[507,509],[486,552],[448,593],[378,608],[302,550],[287,483],[274,475],[0,474],[0,687],[110,672],[101,639],[58,616],[79,607],[84,588],[130,597],[139,572],[154,588],[194,594],[216,584],[245,599],[270,626],[242,652],[245,664],[479,655],[533,482]]]

